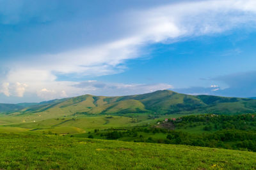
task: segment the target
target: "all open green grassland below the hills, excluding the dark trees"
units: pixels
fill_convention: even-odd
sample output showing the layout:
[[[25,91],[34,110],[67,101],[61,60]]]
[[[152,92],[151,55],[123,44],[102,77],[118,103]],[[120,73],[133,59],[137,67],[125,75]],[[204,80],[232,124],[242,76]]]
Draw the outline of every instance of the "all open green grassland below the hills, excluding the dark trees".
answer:
[[[156,128],[151,128],[164,118],[182,117],[185,120],[186,114],[75,114],[48,119],[37,114],[0,117],[0,169],[256,169],[256,152],[239,151],[253,150],[247,146],[241,146],[241,149],[226,147],[232,146],[232,141],[222,142],[223,146],[214,148],[198,147],[212,147],[210,145],[184,146],[192,145],[200,134],[215,132],[216,129],[204,130],[205,125],[214,127],[213,123],[180,122],[182,126],[176,131],[195,134],[194,140],[182,138],[184,134],[179,132],[180,143],[173,143],[179,141],[175,134],[172,139],[168,138],[172,135],[170,131],[153,132]],[[198,113],[193,117],[196,115]],[[246,124],[253,127],[252,123]],[[103,135],[114,131],[131,132],[136,128],[152,131],[136,131],[118,138]],[[94,139],[88,139],[90,136]],[[182,145],[163,144],[166,140]]]

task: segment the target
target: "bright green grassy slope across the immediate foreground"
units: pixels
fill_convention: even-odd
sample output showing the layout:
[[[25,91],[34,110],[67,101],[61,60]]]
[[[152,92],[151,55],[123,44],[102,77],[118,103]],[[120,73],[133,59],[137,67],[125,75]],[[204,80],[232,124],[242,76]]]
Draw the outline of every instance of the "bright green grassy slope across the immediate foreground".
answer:
[[[255,169],[256,153],[67,136],[0,134],[0,169]]]

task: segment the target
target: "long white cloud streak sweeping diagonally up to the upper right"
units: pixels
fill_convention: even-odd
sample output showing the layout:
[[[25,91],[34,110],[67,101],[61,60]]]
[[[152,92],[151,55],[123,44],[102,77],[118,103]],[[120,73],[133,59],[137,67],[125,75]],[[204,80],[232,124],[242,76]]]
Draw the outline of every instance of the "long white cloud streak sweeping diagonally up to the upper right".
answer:
[[[254,4],[255,1],[250,0],[193,1],[131,11],[122,15],[120,20],[132,27],[129,34],[124,32],[126,37],[120,36],[107,43],[68,52],[35,56],[18,67],[24,69],[26,66],[37,72],[38,69],[48,70],[47,74],[51,74],[52,78],[52,72],[77,73],[80,76],[118,73],[124,71],[126,60],[140,57],[140,46],[148,43],[172,42],[188,36],[219,33],[247,22],[255,24]],[[31,74],[42,73],[29,71],[28,76]]]

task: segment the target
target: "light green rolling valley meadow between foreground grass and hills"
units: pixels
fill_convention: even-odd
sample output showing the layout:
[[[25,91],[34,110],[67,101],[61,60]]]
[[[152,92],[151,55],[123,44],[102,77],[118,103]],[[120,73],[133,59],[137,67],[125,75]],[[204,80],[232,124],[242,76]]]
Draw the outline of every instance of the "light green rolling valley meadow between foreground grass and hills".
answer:
[[[123,116],[112,115],[79,115],[61,118],[39,119],[33,120],[28,115],[19,117],[8,116],[0,117],[0,132],[6,127],[19,127],[21,129],[34,132],[53,132],[57,134],[76,134],[81,132],[93,131],[94,129],[108,129],[116,127],[132,127],[141,125],[156,125],[157,122],[163,121],[164,118],[177,118],[181,115],[158,115],[157,118],[152,118],[154,115],[148,113],[134,113]],[[34,116],[33,116],[34,117]],[[42,117],[39,117],[42,118]],[[23,121],[24,119],[33,120],[30,122]],[[4,132],[4,131],[3,131]],[[6,131],[8,132],[8,131]]]

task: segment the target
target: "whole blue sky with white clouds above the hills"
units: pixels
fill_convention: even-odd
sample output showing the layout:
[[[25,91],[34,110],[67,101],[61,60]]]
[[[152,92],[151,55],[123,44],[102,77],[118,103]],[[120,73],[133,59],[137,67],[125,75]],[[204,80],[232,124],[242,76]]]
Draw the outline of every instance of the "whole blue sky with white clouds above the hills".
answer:
[[[0,103],[256,96],[254,0],[0,0]]]

